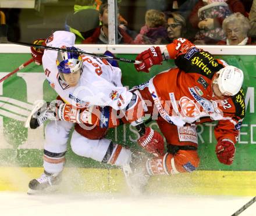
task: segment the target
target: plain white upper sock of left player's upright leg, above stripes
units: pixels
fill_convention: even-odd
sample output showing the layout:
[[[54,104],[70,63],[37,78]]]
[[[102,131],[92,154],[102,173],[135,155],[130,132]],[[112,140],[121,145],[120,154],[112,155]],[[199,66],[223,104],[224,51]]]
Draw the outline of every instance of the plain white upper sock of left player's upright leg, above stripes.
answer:
[[[66,121],[51,121],[47,124],[44,149],[48,152],[65,152],[72,127],[73,123]]]

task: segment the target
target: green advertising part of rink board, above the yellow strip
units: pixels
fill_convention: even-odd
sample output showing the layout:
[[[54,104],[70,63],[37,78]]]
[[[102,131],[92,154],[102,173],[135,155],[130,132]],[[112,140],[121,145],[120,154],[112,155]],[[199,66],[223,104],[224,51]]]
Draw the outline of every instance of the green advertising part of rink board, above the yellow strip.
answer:
[[[135,55],[122,56],[129,59],[135,58]],[[26,62],[30,57],[26,53],[0,53],[0,77],[8,74],[9,71]],[[199,170],[256,171],[256,117],[254,114],[256,57],[252,55],[225,55],[222,59],[244,71],[243,87],[246,95],[246,118],[243,121],[239,141],[236,145],[235,160],[230,166],[220,164],[216,159],[214,153],[216,145],[214,138],[215,123],[198,125],[198,153],[201,158]],[[137,73],[133,64],[119,62],[119,65],[122,69],[123,84],[131,88],[149,80],[159,71],[174,66],[174,63],[169,60],[161,66],[154,66],[150,73]],[[37,66],[34,63],[0,83],[0,166],[42,166],[44,128],[41,127],[35,130],[24,128],[24,121],[26,121],[35,100],[51,101],[55,97],[54,89],[45,80],[42,66]],[[156,123],[151,122],[148,125],[158,130]],[[124,125],[111,129],[106,138],[112,139],[116,143],[136,147],[134,142],[138,138],[138,134],[131,125]],[[67,167],[108,167],[95,163],[93,160],[76,156],[70,149],[67,151],[66,159]]]

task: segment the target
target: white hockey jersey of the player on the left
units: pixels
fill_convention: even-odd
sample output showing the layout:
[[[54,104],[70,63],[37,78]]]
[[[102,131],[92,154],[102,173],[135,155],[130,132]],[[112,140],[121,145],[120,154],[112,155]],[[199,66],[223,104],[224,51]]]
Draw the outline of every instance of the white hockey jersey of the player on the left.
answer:
[[[46,41],[47,46],[74,46],[75,35],[68,31],[55,31]],[[121,83],[121,70],[113,67],[105,59],[82,55],[83,73],[76,87],[62,81],[56,66],[58,51],[45,50],[42,65],[46,78],[61,98],[73,106],[111,106],[115,110],[124,109],[132,94]]]

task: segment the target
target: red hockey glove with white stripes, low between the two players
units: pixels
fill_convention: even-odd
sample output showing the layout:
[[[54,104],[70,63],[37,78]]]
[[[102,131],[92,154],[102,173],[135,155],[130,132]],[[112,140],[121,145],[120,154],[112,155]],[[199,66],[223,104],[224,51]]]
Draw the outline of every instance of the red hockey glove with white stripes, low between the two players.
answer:
[[[138,139],[137,143],[149,153],[158,156],[164,154],[165,147],[162,136],[150,127],[145,128],[145,134]]]

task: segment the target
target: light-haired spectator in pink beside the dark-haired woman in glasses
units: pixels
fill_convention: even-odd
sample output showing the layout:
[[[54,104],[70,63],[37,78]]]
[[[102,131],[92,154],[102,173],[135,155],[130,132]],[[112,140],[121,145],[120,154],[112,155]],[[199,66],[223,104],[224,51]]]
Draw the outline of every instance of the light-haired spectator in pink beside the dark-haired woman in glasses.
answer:
[[[134,39],[134,44],[166,44],[168,41],[165,14],[159,10],[147,10],[145,26]]]

